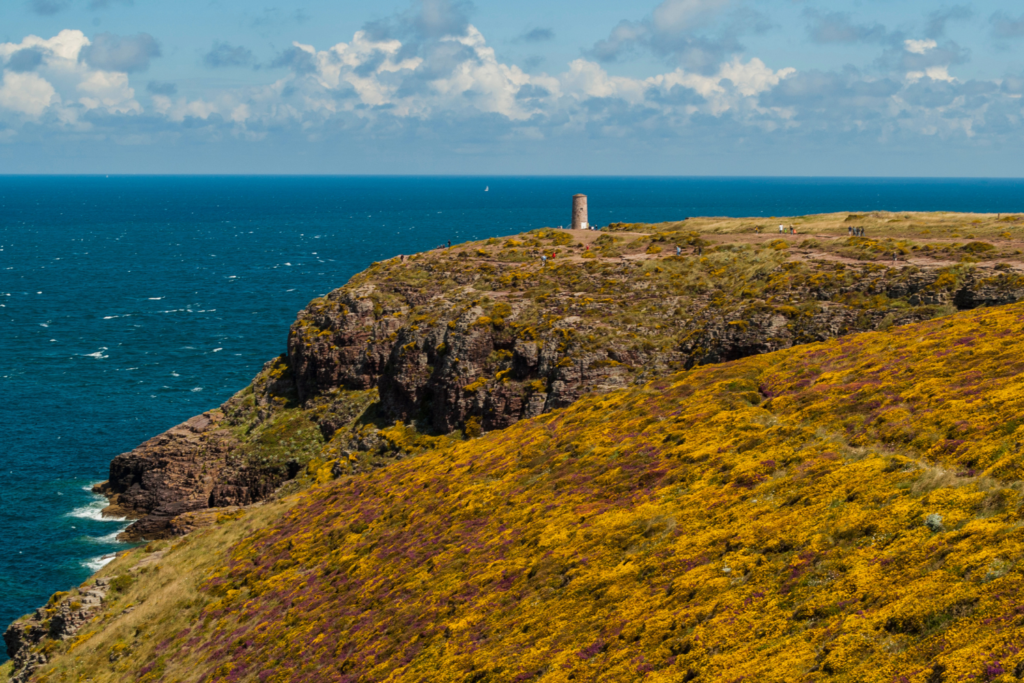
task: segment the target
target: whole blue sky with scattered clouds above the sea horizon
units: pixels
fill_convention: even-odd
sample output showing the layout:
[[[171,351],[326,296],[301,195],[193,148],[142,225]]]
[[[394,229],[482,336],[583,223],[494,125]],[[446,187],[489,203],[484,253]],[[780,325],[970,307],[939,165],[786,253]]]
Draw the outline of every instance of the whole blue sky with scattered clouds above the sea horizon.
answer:
[[[1020,176],[1005,0],[6,0],[0,172]]]

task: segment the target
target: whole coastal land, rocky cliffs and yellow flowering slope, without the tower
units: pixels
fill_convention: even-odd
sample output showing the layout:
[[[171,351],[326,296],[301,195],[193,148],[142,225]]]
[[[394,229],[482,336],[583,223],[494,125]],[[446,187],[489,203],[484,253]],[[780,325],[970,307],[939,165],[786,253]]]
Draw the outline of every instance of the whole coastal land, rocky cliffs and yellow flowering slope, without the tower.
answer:
[[[1024,672],[1022,228],[691,218],[374,263],[115,458],[97,490],[146,543],[12,625],[0,672]]]

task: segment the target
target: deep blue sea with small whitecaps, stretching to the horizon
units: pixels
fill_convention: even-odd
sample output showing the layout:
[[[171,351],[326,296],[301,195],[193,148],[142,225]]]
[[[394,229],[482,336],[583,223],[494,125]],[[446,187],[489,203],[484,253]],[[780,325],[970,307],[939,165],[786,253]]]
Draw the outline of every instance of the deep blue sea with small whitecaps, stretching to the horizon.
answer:
[[[311,298],[567,224],[575,193],[598,225],[1024,211],[1020,180],[0,176],[0,629],[119,549],[89,493],[111,459],[243,388]]]

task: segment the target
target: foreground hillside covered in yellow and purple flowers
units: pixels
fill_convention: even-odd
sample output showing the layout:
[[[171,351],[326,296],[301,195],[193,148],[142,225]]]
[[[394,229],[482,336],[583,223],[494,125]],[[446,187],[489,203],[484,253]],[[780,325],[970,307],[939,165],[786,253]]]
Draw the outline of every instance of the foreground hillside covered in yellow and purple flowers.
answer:
[[[1014,680],[1022,325],[964,312],[362,476],[314,463],[169,546],[45,680]]]

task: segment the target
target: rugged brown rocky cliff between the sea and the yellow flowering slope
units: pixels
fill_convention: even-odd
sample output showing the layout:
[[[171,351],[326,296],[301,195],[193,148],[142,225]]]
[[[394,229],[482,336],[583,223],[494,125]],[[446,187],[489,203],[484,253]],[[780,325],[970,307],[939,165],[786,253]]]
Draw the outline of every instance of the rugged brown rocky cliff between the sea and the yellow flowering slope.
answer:
[[[410,455],[375,436],[396,420],[475,435],[686,368],[1024,298],[1012,268],[801,244],[547,230],[374,264],[301,311],[251,387],[118,456],[99,490],[142,517],[127,538],[161,538],[184,512],[263,500],[322,450],[352,471]]]

